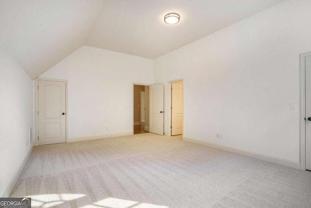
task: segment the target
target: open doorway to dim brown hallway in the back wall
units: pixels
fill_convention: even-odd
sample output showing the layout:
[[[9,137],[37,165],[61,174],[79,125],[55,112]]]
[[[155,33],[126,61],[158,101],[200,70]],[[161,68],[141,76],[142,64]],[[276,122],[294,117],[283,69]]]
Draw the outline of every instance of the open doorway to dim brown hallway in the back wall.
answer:
[[[149,132],[149,86],[134,84],[134,134]]]

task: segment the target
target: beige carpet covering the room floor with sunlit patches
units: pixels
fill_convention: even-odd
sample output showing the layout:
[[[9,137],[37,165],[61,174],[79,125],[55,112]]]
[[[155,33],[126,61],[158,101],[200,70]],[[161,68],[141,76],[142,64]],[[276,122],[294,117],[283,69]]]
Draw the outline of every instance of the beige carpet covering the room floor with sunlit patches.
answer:
[[[311,172],[152,133],[35,147],[33,207],[310,208]]]

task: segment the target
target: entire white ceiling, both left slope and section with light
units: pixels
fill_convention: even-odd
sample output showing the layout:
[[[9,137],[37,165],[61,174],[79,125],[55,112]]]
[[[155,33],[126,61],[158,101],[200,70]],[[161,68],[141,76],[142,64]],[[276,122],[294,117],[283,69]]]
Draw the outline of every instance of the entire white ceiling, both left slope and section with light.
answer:
[[[0,0],[0,44],[35,78],[84,44],[156,58],[282,1]]]

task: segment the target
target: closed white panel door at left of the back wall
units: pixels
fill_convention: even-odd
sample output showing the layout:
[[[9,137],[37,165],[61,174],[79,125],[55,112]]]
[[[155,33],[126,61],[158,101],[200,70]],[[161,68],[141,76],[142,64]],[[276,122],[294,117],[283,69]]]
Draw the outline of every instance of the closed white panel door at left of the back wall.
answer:
[[[39,145],[66,142],[66,82],[38,81]]]

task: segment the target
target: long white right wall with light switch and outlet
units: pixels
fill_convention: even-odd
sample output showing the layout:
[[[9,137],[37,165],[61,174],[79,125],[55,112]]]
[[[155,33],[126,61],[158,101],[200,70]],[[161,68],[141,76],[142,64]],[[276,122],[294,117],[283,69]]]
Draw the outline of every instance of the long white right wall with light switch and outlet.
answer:
[[[299,162],[299,54],[311,51],[310,8],[287,0],[155,59],[165,123],[167,82],[184,78],[185,137]]]

